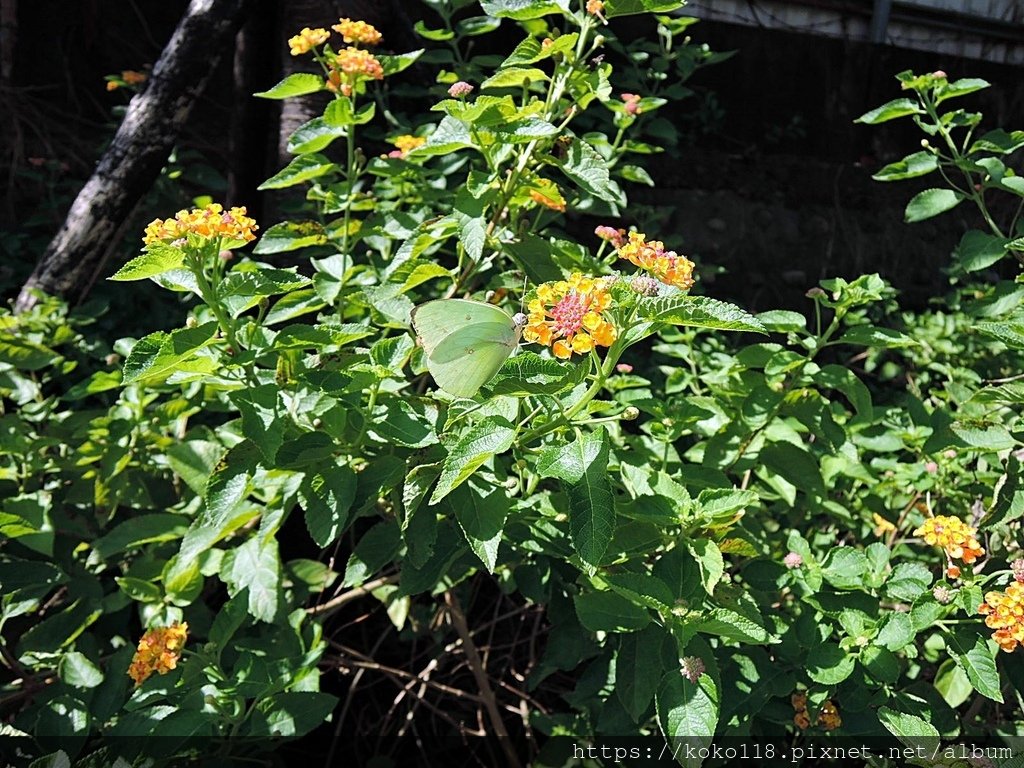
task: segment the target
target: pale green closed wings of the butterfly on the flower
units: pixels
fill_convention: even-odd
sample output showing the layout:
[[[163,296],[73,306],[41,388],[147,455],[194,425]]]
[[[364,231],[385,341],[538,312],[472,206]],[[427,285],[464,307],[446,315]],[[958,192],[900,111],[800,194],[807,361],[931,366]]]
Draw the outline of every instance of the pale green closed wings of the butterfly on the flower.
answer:
[[[504,310],[466,299],[416,307],[413,327],[437,386],[459,397],[472,397],[498,373],[522,332]]]

